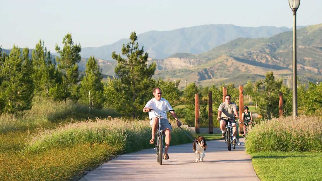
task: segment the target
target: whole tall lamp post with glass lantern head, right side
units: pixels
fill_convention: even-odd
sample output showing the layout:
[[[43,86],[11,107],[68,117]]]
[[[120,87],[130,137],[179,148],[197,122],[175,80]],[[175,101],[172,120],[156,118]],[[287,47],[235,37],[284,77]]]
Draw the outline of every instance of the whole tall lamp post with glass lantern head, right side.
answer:
[[[296,11],[300,0],[289,0],[289,7],[293,11],[293,118],[298,116],[297,77],[296,77]]]

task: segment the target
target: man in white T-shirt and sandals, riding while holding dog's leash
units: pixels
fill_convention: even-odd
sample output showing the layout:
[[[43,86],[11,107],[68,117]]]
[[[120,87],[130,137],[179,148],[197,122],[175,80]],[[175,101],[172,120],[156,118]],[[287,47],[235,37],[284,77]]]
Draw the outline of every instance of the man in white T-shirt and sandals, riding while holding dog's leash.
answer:
[[[153,109],[158,114],[158,113],[165,112],[166,110],[171,110],[172,109],[171,105],[169,104],[169,102],[166,99],[161,97],[161,94],[162,94],[162,92],[159,87],[154,88],[153,89],[154,98],[152,98],[151,100],[149,100],[147,102],[147,104],[143,108],[143,112],[146,113],[146,112],[149,112],[150,109]],[[170,114],[177,121],[177,126],[181,126],[181,122],[179,121],[175,112],[171,111]],[[149,119],[150,119],[150,125],[152,127],[152,138],[149,143],[154,144],[154,137],[155,137],[158,125],[159,125],[159,118],[156,117],[156,115],[154,113],[149,112]],[[164,114],[161,117],[161,129],[163,130],[163,133],[166,135],[166,140],[165,140],[166,141],[166,149],[165,149],[165,153],[163,155],[163,159],[169,159],[168,149],[169,149],[169,145],[170,145],[170,141],[171,141],[172,126],[169,123],[166,114]]]

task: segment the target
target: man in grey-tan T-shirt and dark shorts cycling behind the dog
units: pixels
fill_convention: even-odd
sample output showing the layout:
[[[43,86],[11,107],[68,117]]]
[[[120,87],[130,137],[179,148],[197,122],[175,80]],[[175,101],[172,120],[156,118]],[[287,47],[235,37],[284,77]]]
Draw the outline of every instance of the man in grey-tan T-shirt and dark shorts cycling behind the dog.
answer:
[[[222,138],[225,137],[225,126],[226,126],[226,122],[225,120],[221,120],[221,117],[231,117],[229,119],[229,122],[232,123],[232,135],[233,135],[233,140],[232,143],[236,144],[236,133],[237,133],[237,129],[236,129],[236,122],[234,119],[234,116],[236,118],[238,118],[238,113],[237,113],[237,105],[233,102],[231,102],[232,96],[227,94],[225,95],[225,102],[223,102],[222,104],[219,105],[218,108],[218,117],[217,120],[219,120],[220,123],[220,129],[222,131]]]

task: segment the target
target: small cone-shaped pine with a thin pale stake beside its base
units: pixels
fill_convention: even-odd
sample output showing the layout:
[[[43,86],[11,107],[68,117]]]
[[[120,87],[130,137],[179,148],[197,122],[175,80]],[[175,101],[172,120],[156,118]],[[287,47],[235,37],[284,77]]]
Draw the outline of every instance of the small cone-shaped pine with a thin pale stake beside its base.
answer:
[[[80,102],[90,104],[91,108],[102,109],[105,101],[104,85],[101,82],[103,75],[94,57],[87,60],[85,73],[80,86]]]

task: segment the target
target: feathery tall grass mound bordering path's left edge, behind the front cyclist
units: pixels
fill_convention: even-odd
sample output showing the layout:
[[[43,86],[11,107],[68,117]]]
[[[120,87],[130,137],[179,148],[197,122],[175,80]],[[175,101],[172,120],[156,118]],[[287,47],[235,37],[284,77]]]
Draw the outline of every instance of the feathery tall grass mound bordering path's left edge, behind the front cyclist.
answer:
[[[183,131],[174,128],[174,144],[188,141]],[[178,137],[178,138],[176,138]],[[68,123],[56,129],[41,129],[33,134],[26,147],[30,151],[69,147],[75,144],[104,143],[118,147],[121,152],[132,152],[150,148],[151,126],[148,121],[129,121],[121,118],[96,119],[86,122]]]

